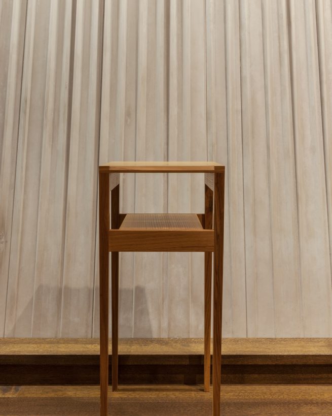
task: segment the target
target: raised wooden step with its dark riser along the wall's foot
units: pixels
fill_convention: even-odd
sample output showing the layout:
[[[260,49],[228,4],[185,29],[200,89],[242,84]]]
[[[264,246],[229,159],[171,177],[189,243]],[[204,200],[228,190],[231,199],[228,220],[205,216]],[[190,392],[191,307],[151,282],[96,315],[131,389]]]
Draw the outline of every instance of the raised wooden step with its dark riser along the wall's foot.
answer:
[[[119,382],[201,384],[203,345],[201,338],[121,339]],[[222,382],[332,384],[332,340],[225,338]],[[0,385],[98,383],[98,339],[0,339]]]

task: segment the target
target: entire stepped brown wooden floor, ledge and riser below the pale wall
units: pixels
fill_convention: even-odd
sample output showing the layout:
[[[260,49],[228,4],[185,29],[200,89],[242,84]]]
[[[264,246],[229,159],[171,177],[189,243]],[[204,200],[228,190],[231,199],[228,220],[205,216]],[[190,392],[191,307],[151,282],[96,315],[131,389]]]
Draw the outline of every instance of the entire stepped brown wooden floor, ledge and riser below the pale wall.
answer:
[[[122,339],[119,350],[109,414],[211,414],[202,339]],[[332,414],[331,339],[223,339],[222,372],[222,415]],[[98,382],[98,339],[0,339],[0,416],[98,415]]]

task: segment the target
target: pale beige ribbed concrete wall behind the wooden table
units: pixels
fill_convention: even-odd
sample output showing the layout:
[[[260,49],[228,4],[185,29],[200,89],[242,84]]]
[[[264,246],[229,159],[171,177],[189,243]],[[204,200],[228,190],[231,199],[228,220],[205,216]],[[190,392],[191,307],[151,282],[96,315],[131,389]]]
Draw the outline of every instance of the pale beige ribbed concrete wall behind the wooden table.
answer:
[[[0,1],[0,336],[98,336],[97,167],[227,166],[223,335],[330,337],[332,4]],[[127,175],[123,212],[203,212]],[[203,336],[203,255],[121,255],[120,336]]]

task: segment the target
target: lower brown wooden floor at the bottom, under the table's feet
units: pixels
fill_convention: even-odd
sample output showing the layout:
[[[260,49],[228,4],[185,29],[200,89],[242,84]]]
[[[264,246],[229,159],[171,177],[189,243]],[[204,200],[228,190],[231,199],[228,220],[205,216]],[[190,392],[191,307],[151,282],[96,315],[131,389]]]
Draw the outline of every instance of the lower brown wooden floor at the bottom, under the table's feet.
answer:
[[[222,415],[330,415],[332,386],[224,385]],[[113,416],[203,416],[211,414],[203,386],[122,386],[109,390]],[[98,386],[6,386],[0,415],[98,415]]]

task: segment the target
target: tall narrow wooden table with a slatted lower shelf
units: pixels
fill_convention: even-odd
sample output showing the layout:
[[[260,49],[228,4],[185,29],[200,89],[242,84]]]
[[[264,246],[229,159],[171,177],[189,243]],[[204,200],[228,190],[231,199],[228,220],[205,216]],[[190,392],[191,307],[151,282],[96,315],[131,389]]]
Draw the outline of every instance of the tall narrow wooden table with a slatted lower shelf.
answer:
[[[202,214],[122,214],[120,173],[204,173]],[[109,191],[111,204],[109,204]],[[112,252],[112,389],[118,390],[119,251],[204,251],[204,390],[210,387],[213,278],[213,416],[220,413],[225,167],[214,162],[110,162],[99,166],[100,414],[107,414],[109,252]],[[109,225],[111,228],[109,228]],[[213,226],[213,228],[212,228]]]

